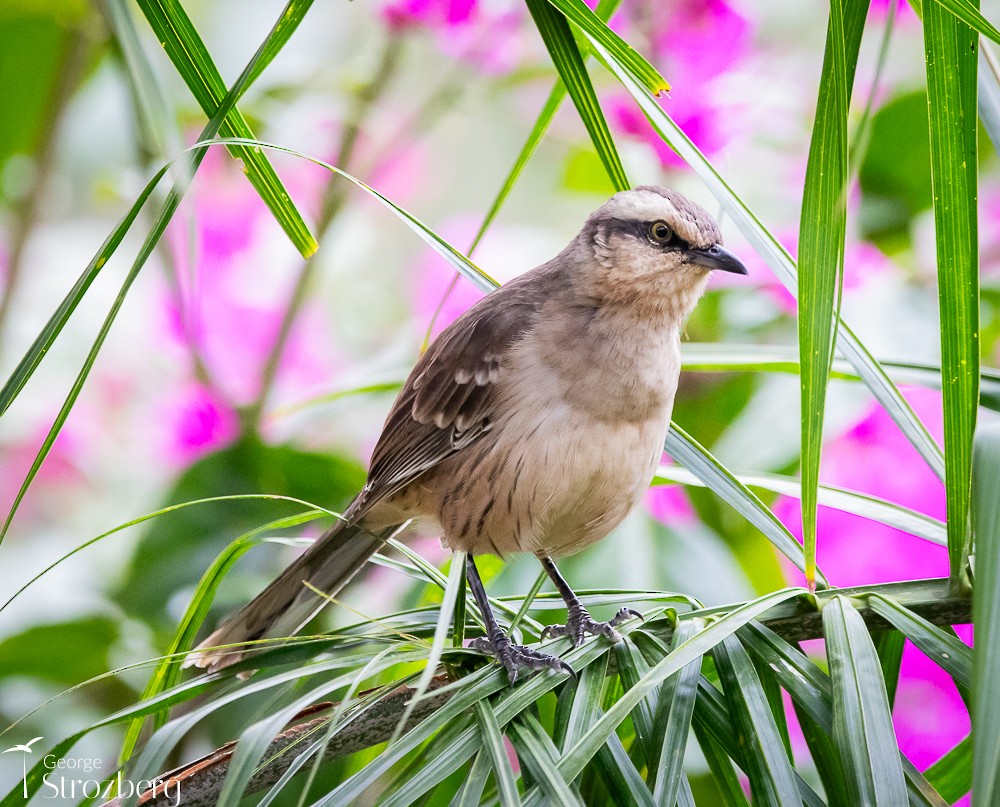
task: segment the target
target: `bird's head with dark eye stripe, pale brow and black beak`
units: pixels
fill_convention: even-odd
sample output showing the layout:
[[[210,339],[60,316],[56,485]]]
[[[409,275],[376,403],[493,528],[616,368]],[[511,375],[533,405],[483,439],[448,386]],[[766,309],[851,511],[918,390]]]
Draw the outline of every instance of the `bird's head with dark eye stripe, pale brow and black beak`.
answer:
[[[595,262],[586,278],[595,298],[678,320],[713,271],[747,273],[704,208],[655,185],[612,196],[587,219],[576,246]]]

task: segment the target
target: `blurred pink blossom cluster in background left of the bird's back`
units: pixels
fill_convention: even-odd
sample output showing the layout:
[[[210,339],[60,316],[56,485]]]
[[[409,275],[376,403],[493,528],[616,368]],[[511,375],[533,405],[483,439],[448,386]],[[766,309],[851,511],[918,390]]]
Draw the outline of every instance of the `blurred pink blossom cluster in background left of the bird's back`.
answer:
[[[308,207],[318,201],[320,176],[304,163],[282,171],[289,192]],[[254,400],[264,364],[277,338],[301,258],[274,222],[246,177],[222,150],[206,157],[193,189],[194,271],[177,272],[181,292],[162,289],[165,348],[183,361],[196,346],[218,389],[191,382],[168,398],[160,413],[170,434],[165,448],[189,461],[235,436],[235,405]],[[190,202],[189,202],[190,203]],[[189,254],[186,224],[169,231],[174,255]],[[307,302],[289,333],[275,389],[305,397],[332,372],[332,349],[322,311]]]

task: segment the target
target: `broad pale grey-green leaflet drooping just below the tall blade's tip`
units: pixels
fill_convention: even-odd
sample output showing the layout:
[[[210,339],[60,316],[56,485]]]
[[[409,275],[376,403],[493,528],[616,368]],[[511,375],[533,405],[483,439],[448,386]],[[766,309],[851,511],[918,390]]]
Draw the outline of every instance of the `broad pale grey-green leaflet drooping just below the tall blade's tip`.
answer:
[[[908,800],[899,745],[875,647],[861,615],[843,597],[823,608],[833,683],[833,736],[855,804]]]

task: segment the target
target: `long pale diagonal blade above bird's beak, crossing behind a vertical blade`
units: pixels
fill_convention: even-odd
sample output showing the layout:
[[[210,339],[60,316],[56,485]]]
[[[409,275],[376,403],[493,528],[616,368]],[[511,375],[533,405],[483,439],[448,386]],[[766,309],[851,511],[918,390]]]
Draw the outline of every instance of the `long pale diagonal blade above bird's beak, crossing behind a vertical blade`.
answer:
[[[660,138],[669,145],[698,175],[709,192],[718,200],[744,237],[757,250],[775,276],[793,295],[797,296],[795,262],[781,243],[761,224],[743,200],[726,184],[704,154],[677,126],[670,116],[650,96],[631,68],[612,57],[600,44],[594,45],[597,54],[614,73]],[[913,408],[903,398],[882,366],[868,352],[847,323],[841,320],[837,331],[837,349],[861,376],[876,400],[893,419],[906,438],[924,458],[934,473],[944,477],[944,457],[934,438],[920,422]]]

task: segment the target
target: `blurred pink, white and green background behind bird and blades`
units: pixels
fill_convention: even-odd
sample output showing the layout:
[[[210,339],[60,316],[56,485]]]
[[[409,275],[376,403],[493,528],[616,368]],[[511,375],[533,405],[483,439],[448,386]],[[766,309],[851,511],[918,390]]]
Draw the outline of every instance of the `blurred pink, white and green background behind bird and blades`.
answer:
[[[853,121],[867,116],[868,136],[854,154],[843,311],[880,359],[934,364],[923,42],[909,5],[892,2],[872,4],[855,84]],[[190,0],[185,8],[231,82],[282,4]],[[995,2],[983,11],[998,17]],[[794,255],[825,6],[624,0],[612,27],[671,82],[664,108]],[[123,34],[129,30],[135,40]],[[145,64],[148,81],[133,81],[129,63]],[[599,68],[592,75],[632,181],[677,188],[718,212],[613,78]],[[320,3],[239,106],[259,138],[345,168],[464,251],[554,77],[513,0]],[[146,181],[197,139],[205,118],[137,10],[110,0],[6,0],[0,109],[6,378]],[[983,143],[982,350],[995,367],[1000,186],[996,152],[985,135]],[[465,280],[449,293],[453,270],[349,183],[303,159],[270,158],[318,253],[304,260],[240,165],[211,149],[0,546],[0,602],[84,542],[168,504],[264,492],[342,508],[363,482],[394,385],[428,331],[478,298]],[[567,104],[474,260],[500,280],[530,269],[611,192]],[[153,215],[140,214],[0,421],[0,512],[14,502]],[[713,281],[687,340],[787,348],[794,357],[794,300],[721,223],[750,277]],[[940,439],[939,394],[906,394]],[[794,374],[688,372],[674,419],[731,468],[794,474],[798,406]],[[824,483],[944,517],[942,486],[863,387],[833,382],[827,425]],[[797,533],[798,501],[762,495]],[[216,555],[295,511],[259,500],[193,506],[117,532],[45,572],[0,611],[0,723],[163,653]],[[943,547],[828,509],[819,526],[819,563],[835,585],[947,576]],[[411,543],[446,561],[436,536]],[[220,589],[214,618],[249,599],[296,551],[269,543],[246,555]],[[491,593],[524,592],[537,574],[531,558],[487,569]],[[578,588],[676,590],[706,604],[799,582],[713,494],[680,487],[651,491],[641,512],[567,561],[564,573]],[[344,596],[377,616],[429,595],[373,568]],[[17,737],[64,736],[134,703],[146,675],[130,670],[63,694],[28,717]],[[894,716],[901,748],[921,769],[969,730],[951,680],[920,654],[904,656]],[[185,755],[229,739],[227,729],[220,717]],[[108,758],[120,742],[115,732],[87,739],[93,755]],[[0,759],[0,780],[20,775],[17,760]]]

